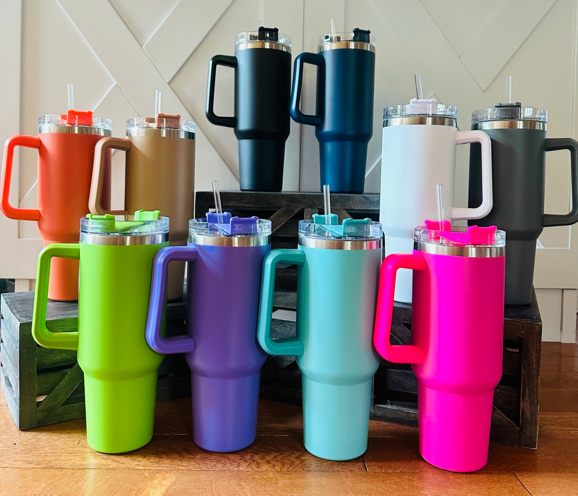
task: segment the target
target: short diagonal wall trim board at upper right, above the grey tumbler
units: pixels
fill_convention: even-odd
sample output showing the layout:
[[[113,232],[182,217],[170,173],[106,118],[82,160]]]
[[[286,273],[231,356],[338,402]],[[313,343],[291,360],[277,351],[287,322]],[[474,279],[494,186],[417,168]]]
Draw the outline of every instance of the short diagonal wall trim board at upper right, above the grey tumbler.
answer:
[[[486,90],[556,0],[506,0],[460,57]],[[523,14],[520,14],[523,13]]]

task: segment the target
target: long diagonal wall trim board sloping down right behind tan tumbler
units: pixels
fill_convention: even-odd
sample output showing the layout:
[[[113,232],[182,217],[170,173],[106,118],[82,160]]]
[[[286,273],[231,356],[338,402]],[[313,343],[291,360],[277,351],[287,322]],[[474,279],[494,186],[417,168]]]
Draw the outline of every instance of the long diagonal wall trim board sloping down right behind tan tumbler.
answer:
[[[58,1],[139,115],[152,112],[154,91],[158,89],[162,91],[163,108],[180,113],[183,119],[194,120],[109,2]],[[102,26],[106,26],[106,30],[102,30]],[[135,80],[138,84],[134,84]],[[202,130],[197,126],[199,133]],[[231,172],[238,179],[238,173]]]

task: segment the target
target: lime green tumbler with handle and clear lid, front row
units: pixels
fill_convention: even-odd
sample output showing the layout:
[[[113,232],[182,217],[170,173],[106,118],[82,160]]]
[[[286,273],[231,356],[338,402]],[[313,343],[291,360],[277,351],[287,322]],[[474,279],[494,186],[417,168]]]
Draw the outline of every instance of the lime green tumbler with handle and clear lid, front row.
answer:
[[[40,346],[77,350],[84,372],[88,445],[102,453],[138,449],[153,437],[162,355],[144,337],[153,259],[169,245],[169,219],[154,212],[91,215],[79,244],[40,252],[32,335]],[[50,260],[80,259],[78,331],[46,328]]]

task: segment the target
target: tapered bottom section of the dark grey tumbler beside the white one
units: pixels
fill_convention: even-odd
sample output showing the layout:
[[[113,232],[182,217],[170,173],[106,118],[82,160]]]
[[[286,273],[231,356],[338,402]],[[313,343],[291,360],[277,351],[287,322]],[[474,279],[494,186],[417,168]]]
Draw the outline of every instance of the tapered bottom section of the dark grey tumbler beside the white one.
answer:
[[[536,240],[507,240],[506,305],[529,305],[532,302],[535,259]]]

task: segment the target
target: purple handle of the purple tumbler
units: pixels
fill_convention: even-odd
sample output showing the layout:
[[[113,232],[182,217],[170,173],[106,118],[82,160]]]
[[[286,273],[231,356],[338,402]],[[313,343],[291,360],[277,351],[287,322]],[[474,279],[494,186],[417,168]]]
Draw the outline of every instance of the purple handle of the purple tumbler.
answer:
[[[194,262],[198,252],[194,247],[161,248],[153,261],[153,277],[150,282],[149,314],[146,319],[145,335],[147,343],[154,351],[164,355],[190,353],[195,351],[195,341],[191,336],[161,336],[162,314],[165,310],[166,274],[171,260]]]

